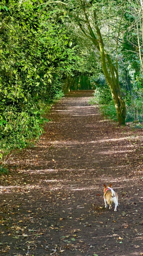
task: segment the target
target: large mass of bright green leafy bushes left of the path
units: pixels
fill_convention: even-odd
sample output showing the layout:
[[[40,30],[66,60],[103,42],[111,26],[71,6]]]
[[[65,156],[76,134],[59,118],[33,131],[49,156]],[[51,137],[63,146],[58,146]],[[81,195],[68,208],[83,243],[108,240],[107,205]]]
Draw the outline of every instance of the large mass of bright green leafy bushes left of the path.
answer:
[[[1,154],[41,135],[43,108],[63,96],[62,76],[82,64],[63,24],[65,14],[53,7],[35,0],[1,1]]]

